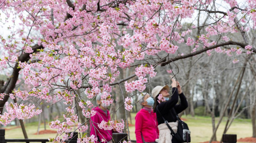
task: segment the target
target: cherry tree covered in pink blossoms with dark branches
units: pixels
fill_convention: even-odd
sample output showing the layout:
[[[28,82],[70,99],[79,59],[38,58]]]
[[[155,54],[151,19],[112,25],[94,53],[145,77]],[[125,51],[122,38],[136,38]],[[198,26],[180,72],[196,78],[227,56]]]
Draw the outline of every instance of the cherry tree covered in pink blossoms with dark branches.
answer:
[[[32,118],[42,112],[43,103],[63,101],[64,120],[49,126],[60,134],[50,140],[64,142],[73,136],[68,134],[72,128],[88,130],[85,123],[96,114],[92,100],[97,94],[102,93],[105,104],[113,103],[115,85],[122,93],[122,108],[131,110],[133,92],[150,93],[157,66],[204,52],[230,56],[234,64],[240,62],[236,55],[250,58],[256,53],[248,38],[256,28],[255,8],[255,0],[0,0],[0,67],[9,76],[0,89],[0,123]],[[192,22],[203,14],[205,21]],[[231,38],[232,34],[239,36]],[[178,54],[179,49],[187,52]],[[119,77],[120,70],[134,67],[133,74]],[[26,90],[15,88],[20,80]],[[9,103],[8,98],[17,102]],[[73,103],[88,118],[76,127],[79,118]],[[118,132],[128,124],[126,110],[126,119],[116,124]],[[114,121],[98,126],[111,130]],[[96,141],[87,135],[78,139]]]

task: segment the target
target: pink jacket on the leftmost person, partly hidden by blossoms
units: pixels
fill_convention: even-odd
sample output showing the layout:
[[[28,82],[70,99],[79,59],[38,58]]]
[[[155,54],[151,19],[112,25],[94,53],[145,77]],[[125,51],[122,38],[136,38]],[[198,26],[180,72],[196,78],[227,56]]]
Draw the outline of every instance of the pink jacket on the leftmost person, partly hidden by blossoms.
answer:
[[[90,129],[91,129],[90,136],[95,135],[95,137],[98,137],[98,143],[99,143],[99,141],[101,142],[101,139],[106,139],[106,142],[108,142],[109,140],[112,140],[113,130],[99,129],[98,124],[97,124],[97,123],[101,123],[101,121],[103,119],[106,122],[108,122],[110,120],[109,111],[107,110],[107,115],[106,115],[102,111],[101,108],[96,107],[95,109],[92,109],[92,110],[95,110],[97,113],[96,113],[96,115],[91,117],[92,122],[90,121],[90,125],[91,125],[90,126]]]

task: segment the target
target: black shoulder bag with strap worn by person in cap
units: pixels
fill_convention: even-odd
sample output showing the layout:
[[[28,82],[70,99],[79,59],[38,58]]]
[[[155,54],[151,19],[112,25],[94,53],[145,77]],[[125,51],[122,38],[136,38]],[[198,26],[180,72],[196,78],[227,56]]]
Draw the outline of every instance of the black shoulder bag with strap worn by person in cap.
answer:
[[[173,129],[171,129],[170,125],[168,124],[168,121],[164,119],[164,117],[162,116],[162,114],[160,113],[157,107],[157,112],[162,116],[162,118],[164,119],[164,123],[171,130],[171,135],[175,137],[175,139],[180,143],[190,143],[190,130],[188,129],[188,125],[185,122],[181,121],[181,119],[176,114],[175,109],[172,108],[172,110],[178,120],[177,133],[174,133]]]

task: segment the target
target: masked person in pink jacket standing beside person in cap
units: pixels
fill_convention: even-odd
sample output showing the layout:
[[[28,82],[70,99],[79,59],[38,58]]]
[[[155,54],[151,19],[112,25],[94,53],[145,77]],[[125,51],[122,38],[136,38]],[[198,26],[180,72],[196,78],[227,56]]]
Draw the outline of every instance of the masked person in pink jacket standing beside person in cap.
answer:
[[[148,93],[138,96],[143,108],[135,116],[135,135],[137,143],[155,143],[158,139],[157,116],[152,110],[154,99]]]

